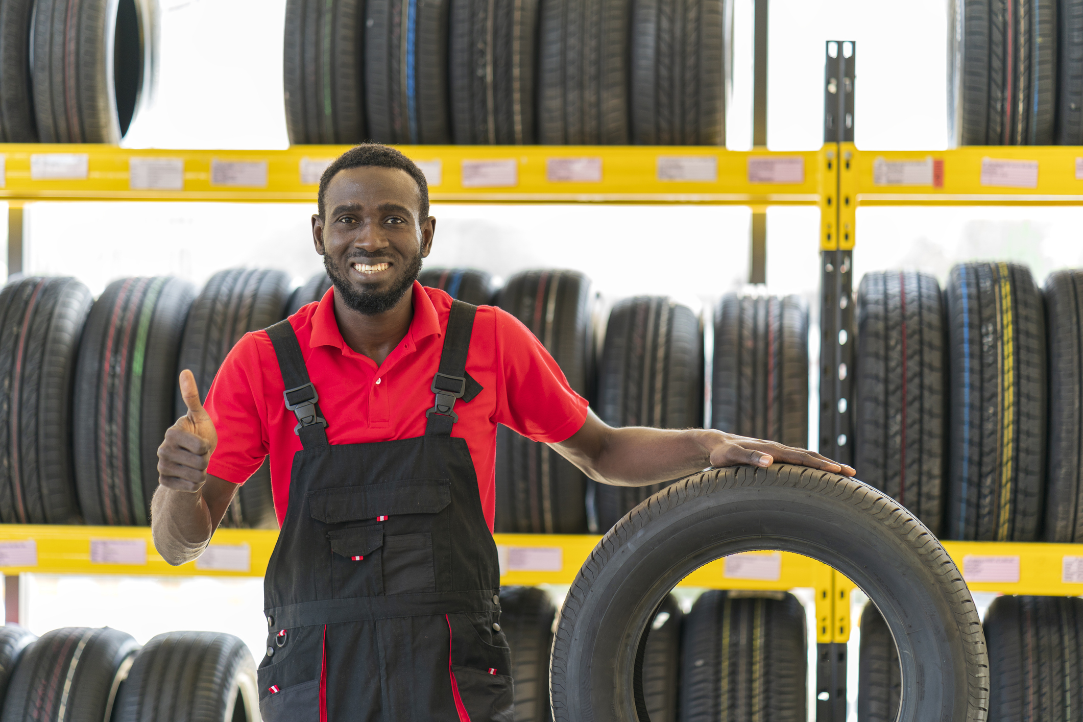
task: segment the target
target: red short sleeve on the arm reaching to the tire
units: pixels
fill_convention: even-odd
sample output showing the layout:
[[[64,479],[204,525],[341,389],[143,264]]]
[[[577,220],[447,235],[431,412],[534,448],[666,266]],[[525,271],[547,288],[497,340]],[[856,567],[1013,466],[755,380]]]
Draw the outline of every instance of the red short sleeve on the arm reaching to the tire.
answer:
[[[495,312],[504,391],[495,421],[536,442],[565,441],[583,426],[587,399],[572,390],[530,329],[506,311]]]

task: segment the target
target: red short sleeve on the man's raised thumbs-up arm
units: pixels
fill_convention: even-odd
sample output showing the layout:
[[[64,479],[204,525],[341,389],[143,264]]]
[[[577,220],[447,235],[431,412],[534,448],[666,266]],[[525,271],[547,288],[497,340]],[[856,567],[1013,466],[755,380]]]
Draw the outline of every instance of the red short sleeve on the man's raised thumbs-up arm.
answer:
[[[269,443],[261,373],[259,337],[246,333],[225,357],[204,403],[218,432],[208,474],[244,484],[263,463]]]

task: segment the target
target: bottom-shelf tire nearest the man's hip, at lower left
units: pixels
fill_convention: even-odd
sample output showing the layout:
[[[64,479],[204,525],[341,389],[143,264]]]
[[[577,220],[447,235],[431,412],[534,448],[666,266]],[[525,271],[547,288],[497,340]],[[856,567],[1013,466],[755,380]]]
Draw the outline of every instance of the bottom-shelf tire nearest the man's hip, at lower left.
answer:
[[[113,722],[257,722],[256,662],[233,634],[166,632],[146,643],[120,687]]]

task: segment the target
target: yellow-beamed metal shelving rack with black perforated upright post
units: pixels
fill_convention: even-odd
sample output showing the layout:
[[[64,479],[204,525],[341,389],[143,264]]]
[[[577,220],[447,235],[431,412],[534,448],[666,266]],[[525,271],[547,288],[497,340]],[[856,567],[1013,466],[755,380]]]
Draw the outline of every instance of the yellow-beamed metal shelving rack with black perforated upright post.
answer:
[[[1083,205],[1083,147],[859,150],[853,145],[853,44],[837,41],[835,48],[834,55],[830,51],[827,54],[825,143],[819,150],[733,152],[692,146],[403,146],[401,149],[425,169],[434,202],[709,204],[747,206],[754,214],[762,213],[768,206],[819,207],[820,449],[833,458],[850,461],[851,254],[857,237],[857,208]],[[319,172],[348,147],[219,152],[0,144],[0,200],[10,205],[9,272],[22,270],[22,209],[26,202],[314,204]],[[485,181],[486,178],[490,180]],[[569,178],[577,180],[565,180]],[[760,224],[757,234],[754,223],[754,247],[762,246],[762,231]],[[759,250],[761,254],[762,248]],[[761,268],[754,267],[754,279],[761,279]],[[212,554],[217,562],[209,566],[171,567],[154,553],[147,528],[0,525],[0,572],[4,575],[262,576],[276,536],[276,531],[220,529],[211,546],[212,550],[220,548],[221,553]],[[501,549],[501,583],[571,583],[598,539],[496,535]],[[105,547],[95,547],[103,542]],[[943,543],[964,577],[970,577],[968,583],[976,591],[1083,595],[1083,547]],[[106,551],[101,552],[102,549]],[[138,553],[140,549],[143,561]],[[131,553],[135,556],[125,556]],[[779,554],[778,576],[773,579],[727,576],[725,563],[719,560],[696,570],[682,583],[719,589],[814,589],[820,659],[817,719],[843,722],[853,585],[820,562],[797,554]],[[979,565],[988,568],[990,561],[1008,569],[1004,580],[974,581],[970,570]],[[1017,569],[1015,578],[1013,568]]]

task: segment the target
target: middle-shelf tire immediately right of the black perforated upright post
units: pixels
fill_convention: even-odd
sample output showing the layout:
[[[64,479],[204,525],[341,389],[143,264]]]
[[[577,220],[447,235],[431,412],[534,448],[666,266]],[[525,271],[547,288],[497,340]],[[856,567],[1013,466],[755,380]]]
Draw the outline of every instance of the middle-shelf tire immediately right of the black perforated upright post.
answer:
[[[940,534],[948,461],[940,285],[913,271],[869,273],[857,312],[858,473]]]

